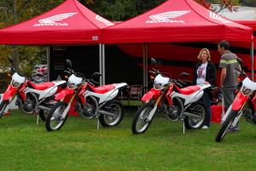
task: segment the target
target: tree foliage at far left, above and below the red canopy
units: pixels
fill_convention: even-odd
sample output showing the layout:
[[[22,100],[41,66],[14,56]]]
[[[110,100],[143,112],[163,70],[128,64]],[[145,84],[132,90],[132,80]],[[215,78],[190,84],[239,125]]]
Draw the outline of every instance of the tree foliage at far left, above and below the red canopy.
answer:
[[[49,0],[49,1],[38,1],[38,0],[1,0],[0,1],[0,22],[3,26],[12,26],[18,24],[23,20],[28,20],[38,14],[42,14],[45,11],[52,9],[57,4],[63,2],[63,0]],[[32,50],[32,48],[34,48]],[[28,50],[30,49],[30,50]],[[22,53],[26,51],[26,53]],[[32,52],[38,52],[42,54],[45,52],[44,58],[46,57],[46,48],[38,47],[25,47],[25,46],[0,46],[0,61],[5,61],[8,56],[11,56],[15,61],[15,67],[21,64],[23,66],[29,66],[41,60],[42,56],[34,55]],[[3,53],[4,52],[4,53]],[[32,53],[32,54],[31,54]],[[25,55],[26,54],[26,55]],[[21,56],[22,55],[22,56]],[[24,56],[28,56],[27,59]],[[29,61],[29,60],[33,60]],[[1,62],[2,63],[2,62]],[[2,63],[4,64],[4,62]],[[27,70],[26,70],[27,71]]]

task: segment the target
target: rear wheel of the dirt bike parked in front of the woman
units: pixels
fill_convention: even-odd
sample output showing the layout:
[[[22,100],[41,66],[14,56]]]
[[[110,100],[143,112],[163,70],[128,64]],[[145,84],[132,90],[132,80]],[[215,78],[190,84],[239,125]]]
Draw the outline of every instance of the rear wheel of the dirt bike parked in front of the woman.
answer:
[[[197,115],[199,118],[186,116],[184,120],[185,127],[188,129],[201,128],[207,116],[207,110],[205,105],[202,105],[201,103],[194,103],[191,106],[189,106],[189,108],[186,111],[189,111],[194,115]]]

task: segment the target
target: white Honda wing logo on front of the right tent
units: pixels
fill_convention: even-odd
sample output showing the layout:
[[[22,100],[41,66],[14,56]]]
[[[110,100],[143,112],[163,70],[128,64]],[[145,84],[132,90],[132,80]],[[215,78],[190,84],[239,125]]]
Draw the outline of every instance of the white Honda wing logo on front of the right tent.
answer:
[[[161,14],[150,15],[146,23],[184,23],[183,20],[174,20],[177,17],[188,14],[190,11],[169,11]]]

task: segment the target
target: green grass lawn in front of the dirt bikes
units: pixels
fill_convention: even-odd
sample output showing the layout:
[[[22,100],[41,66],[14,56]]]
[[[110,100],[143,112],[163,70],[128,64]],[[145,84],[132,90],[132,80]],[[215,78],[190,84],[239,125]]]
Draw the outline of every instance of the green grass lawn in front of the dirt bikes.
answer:
[[[180,122],[155,117],[145,134],[131,134],[134,111],[117,128],[96,129],[96,120],[68,117],[47,132],[35,116],[12,111],[0,120],[0,170],[255,170],[256,128],[241,121],[222,143],[219,124],[183,134]]]

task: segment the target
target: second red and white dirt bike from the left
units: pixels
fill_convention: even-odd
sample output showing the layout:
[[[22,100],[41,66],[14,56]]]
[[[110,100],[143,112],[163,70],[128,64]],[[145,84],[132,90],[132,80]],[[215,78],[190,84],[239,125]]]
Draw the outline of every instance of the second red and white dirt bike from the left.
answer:
[[[67,120],[67,113],[71,106],[85,118],[98,118],[103,127],[118,125],[124,116],[123,105],[115,100],[119,89],[126,83],[114,83],[96,87],[93,79],[86,79],[82,73],[74,72],[70,60],[67,60],[69,75],[67,88],[55,95],[59,101],[49,111],[45,122],[48,131],[59,130]],[[100,77],[95,72],[92,77]]]

